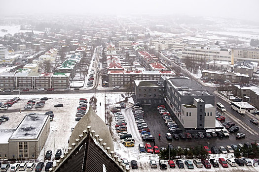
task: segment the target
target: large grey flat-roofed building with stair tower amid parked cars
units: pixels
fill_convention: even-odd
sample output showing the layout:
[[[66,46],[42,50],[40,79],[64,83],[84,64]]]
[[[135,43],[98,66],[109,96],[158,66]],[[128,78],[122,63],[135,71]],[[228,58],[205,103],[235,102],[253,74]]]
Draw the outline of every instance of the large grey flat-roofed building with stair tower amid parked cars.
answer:
[[[215,128],[215,108],[214,111],[211,109],[205,110],[205,108],[212,108],[215,104],[213,94],[187,77],[171,77],[167,78],[165,82],[166,103],[179,120],[179,123],[182,124],[183,128]],[[184,111],[182,111],[183,109]],[[214,123],[211,122],[211,118],[207,118],[207,121],[205,117],[205,112],[207,111],[213,112],[212,116],[214,115]],[[191,112],[191,114],[193,113],[191,118],[186,116],[186,112]],[[194,121],[196,121],[196,123],[190,123],[192,118],[195,119]],[[185,120],[189,120],[189,122],[186,123]]]

